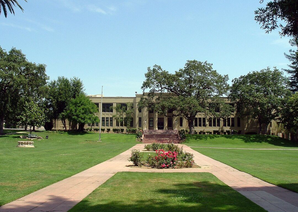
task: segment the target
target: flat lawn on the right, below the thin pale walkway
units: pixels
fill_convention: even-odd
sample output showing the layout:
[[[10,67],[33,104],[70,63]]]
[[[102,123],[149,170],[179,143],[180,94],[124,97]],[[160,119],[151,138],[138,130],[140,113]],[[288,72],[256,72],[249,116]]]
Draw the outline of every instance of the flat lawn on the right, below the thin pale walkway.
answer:
[[[298,193],[298,150],[193,149],[237,170]]]

